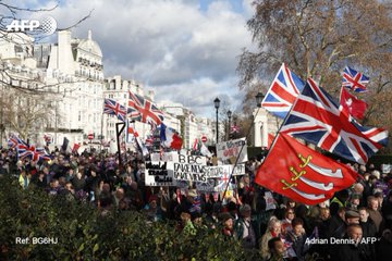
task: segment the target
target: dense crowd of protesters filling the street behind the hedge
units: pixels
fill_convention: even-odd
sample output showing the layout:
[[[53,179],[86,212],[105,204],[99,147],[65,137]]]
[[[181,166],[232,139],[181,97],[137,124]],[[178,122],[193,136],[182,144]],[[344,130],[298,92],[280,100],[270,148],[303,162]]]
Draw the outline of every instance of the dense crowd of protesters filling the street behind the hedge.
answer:
[[[145,160],[135,152],[115,154],[52,152],[52,160],[17,161],[2,149],[1,175],[13,175],[23,189],[91,204],[102,215],[111,210],[138,211],[148,222],[177,222],[179,233],[195,235],[199,226],[221,229],[228,240],[259,251],[262,260],[391,260],[392,173],[372,164],[352,167],[360,175],[351,188],[317,206],[305,206],[254,183],[261,164],[246,163],[246,174],[233,178],[235,196],[222,200],[194,187],[145,185]],[[211,161],[210,161],[211,162]],[[210,163],[209,162],[209,163]],[[375,238],[375,239],[373,239]]]

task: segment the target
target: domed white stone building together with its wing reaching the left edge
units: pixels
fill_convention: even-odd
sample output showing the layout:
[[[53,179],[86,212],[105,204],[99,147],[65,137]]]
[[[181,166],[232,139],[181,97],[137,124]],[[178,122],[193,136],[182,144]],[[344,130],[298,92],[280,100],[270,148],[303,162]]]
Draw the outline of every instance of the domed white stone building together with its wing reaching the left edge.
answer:
[[[28,138],[40,144],[45,133],[52,136],[52,144],[61,145],[66,137],[71,146],[87,141],[90,133],[98,138],[103,110],[103,66],[102,52],[91,33],[88,32],[87,39],[73,39],[71,32],[62,30],[57,44],[41,45],[34,45],[33,39],[20,34],[7,37],[0,42],[2,64],[7,72],[21,78],[22,87],[33,85],[30,88],[45,91],[38,100],[47,100],[42,110],[50,114],[35,129],[40,134]],[[5,127],[14,130],[12,126]]]

